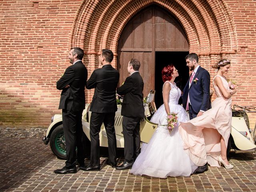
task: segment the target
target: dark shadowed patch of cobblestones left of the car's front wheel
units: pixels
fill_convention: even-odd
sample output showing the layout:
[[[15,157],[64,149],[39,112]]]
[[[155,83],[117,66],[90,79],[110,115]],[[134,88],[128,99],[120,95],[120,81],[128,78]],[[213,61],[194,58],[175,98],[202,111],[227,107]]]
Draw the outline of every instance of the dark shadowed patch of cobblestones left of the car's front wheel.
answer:
[[[0,191],[18,188],[56,157],[41,138],[0,138]]]

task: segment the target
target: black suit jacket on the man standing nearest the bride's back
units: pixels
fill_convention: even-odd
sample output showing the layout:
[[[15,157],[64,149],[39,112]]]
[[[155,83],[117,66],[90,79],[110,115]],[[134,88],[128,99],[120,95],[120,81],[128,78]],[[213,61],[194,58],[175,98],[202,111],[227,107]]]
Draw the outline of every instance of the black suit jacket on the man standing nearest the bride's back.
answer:
[[[121,115],[127,117],[145,116],[143,106],[143,79],[139,72],[134,72],[128,76],[124,84],[117,88],[119,95],[124,95]]]

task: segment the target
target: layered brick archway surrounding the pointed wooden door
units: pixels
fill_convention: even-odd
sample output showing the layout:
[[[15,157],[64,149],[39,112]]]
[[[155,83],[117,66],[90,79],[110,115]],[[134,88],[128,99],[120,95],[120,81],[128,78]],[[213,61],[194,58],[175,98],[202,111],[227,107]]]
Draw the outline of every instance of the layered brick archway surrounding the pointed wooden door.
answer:
[[[89,73],[99,67],[102,48],[114,52],[112,64],[117,67],[118,39],[124,26],[140,10],[154,4],[177,18],[186,32],[190,52],[199,54],[201,65],[210,73],[210,66],[221,56],[236,53],[236,31],[224,0],[84,0],[73,24],[71,46],[84,48]],[[90,90],[88,98],[91,95]]]

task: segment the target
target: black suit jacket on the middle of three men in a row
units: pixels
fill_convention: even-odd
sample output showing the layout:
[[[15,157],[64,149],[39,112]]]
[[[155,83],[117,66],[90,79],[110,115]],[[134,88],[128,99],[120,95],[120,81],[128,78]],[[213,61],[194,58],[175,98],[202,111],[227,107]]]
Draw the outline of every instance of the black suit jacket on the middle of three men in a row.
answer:
[[[91,112],[109,113],[116,112],[116,87],[119,81],[119,72],[110,64],[94,70],[89,80],[86,82],[86,88],[94,90]]]

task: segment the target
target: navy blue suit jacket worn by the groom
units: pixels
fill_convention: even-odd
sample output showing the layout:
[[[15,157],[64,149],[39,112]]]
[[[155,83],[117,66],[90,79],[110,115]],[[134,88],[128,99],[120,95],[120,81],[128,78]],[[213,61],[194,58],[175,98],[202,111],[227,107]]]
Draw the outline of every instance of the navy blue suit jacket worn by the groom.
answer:
[[[191,76],[191,75],[190,75]],[[195,79],[197,81],[194,81]],[[210,74],[207,70],[199,66],[189,87],[189,80],[183,90],[182,105],[186,109],[188,93],[190,104],[194,112],[206,111],[210,108]]]

